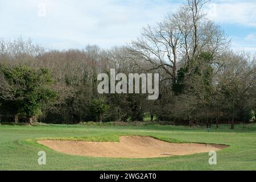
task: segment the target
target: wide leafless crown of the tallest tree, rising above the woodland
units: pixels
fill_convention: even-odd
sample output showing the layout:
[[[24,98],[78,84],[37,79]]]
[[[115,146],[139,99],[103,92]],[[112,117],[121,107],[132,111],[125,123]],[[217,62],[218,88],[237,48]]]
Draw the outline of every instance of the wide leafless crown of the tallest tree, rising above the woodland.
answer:
[[[134,60],[151,63],[153,69],[163,69],[176,83],[177,62],[196,60],[201,52],[212,56],[229,46],[229,40],[216,24],[205,18],[203,6],[208,1],[188,0],[177,13],[169,14],[157,26],[147,26],[142,36],[131,43]]]

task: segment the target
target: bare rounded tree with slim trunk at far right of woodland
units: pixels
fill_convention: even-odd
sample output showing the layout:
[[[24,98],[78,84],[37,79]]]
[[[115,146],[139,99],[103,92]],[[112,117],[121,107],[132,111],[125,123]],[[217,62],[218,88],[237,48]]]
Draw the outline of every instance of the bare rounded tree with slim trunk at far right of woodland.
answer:
[[[234,129],[234,121],[237,111],[246,106],[246,101],[251,102],[253,95],[250,90],[255,89],[255,58],[245,53],[236,54],[227,52],[223,57],[224,65],[218,72],[218,87],[222,97],[222,108],[228,111],[231,118],[231,129]],[[249,107],[253,109],[253,107]]]

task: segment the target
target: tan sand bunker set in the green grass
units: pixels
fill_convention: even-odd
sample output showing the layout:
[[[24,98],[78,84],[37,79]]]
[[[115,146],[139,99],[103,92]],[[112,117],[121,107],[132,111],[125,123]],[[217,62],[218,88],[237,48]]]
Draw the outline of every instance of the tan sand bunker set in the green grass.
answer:
[[[227,147],[220,144],[169,143],[139,136],[120,137],[120,142],[39,140],[38,143],[65,154],[108,158],[157,158],[218,151]]]

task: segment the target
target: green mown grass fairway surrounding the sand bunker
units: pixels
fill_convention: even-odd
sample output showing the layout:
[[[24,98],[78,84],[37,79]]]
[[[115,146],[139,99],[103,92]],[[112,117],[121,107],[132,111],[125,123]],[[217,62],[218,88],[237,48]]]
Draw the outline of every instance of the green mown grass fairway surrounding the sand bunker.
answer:
[[[208,153],[166,158],[120,159],[66,155],[36,143],[38,138],[118,140],[120,135],[148,135],[172,142],[227,144],[217,151],[217,165],[209,165]],[[46,165],[38,164],[38,152],[46,151]],[[220,129],[184,126],[0,126],[0,170],[255,170],[256,125],[228,125]]]

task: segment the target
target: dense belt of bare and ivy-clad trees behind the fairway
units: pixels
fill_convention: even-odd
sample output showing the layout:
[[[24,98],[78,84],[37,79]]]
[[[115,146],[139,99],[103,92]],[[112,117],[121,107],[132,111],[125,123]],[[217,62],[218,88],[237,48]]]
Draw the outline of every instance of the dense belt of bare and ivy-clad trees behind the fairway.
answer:
[[[256,57],[236,52],[203,0],[144,27],[123,47],[46,50],[0,39],[1,122],[171,121],[176,125],[253,122]],[[125,44],[125,43],[124,43]],[[159,73],[159,98],[99,94],[98,73]],[[255,118],[254,118],[255,120]]]

